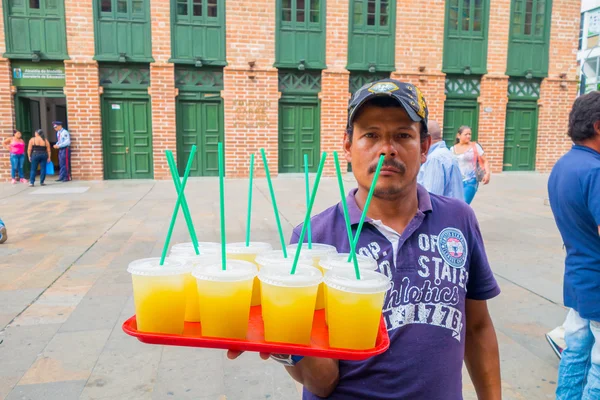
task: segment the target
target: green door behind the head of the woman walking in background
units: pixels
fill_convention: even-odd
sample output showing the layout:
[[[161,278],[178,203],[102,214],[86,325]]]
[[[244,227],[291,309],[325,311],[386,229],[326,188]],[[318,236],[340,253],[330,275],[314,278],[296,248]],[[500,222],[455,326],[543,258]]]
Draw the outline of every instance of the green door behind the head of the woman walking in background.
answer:
[[[471,127],[471,140],[476,141],[479,127],[479,107],[476,100],[452,101],[444,104],[444,140],[448,147],[454,146],[458,128]]]

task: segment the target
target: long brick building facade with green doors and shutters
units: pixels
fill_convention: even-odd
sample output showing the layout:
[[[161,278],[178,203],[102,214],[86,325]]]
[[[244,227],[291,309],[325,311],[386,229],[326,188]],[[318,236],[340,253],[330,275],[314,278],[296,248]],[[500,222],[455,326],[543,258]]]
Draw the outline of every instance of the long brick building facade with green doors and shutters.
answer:
[[[76,179],[316,169],[340,150],[351,93],[416,84],[452,142],[473,128],[492,168],[548,171],[577,95],[576,0],[2,0],[0,124],[65,122]],[[5,151],[4,149],[2,151]],[[53,155],[55,157],[55,155]],[[328,164],[326,173],[333,174]],[[8,154],[0,179],[9,177]]]

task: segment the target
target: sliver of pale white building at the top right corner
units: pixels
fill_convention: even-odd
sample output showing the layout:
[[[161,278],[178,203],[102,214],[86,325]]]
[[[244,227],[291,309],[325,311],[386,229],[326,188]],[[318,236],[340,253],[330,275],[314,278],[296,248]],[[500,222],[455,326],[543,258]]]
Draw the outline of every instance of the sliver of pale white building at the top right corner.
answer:
[[[600,90],[600,0],[581,2],[578,49],[579,93]]]

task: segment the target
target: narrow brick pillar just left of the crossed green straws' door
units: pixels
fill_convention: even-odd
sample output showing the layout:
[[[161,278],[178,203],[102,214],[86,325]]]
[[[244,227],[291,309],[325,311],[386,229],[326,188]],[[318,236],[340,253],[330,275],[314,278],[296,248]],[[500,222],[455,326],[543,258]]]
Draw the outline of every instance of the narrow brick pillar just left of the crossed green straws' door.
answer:
[[[175,66],[171,58],[171,7],[168,1],[151,0],[152,57],[150,88],[152,108],[152,154],[154,179],[171,179],[165,150],[173,151],[177,160],[177,126],[175,117]]]

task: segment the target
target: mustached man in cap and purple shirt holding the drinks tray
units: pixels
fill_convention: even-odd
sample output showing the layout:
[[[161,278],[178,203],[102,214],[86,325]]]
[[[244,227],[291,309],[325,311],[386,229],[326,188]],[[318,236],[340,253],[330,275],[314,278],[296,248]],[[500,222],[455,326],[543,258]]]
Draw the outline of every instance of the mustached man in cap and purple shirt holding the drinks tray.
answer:
[[[498,343],[486,303],[500,289],[477,219],[463,201],[417,184],[431,145],[427,115],[419,89],[392,79],[363,86],[350,102],[344,151],[358,182],[347,197],[354,233],[385,156],[356,251],[374,258],[392,281],[383,305],[390,348],[364,361],[274,357],[304,385],[306,400],[459,400],[463,360],[478,398],[501,398]],[[341,204],[311,225],[313,242],[350,251]]]

